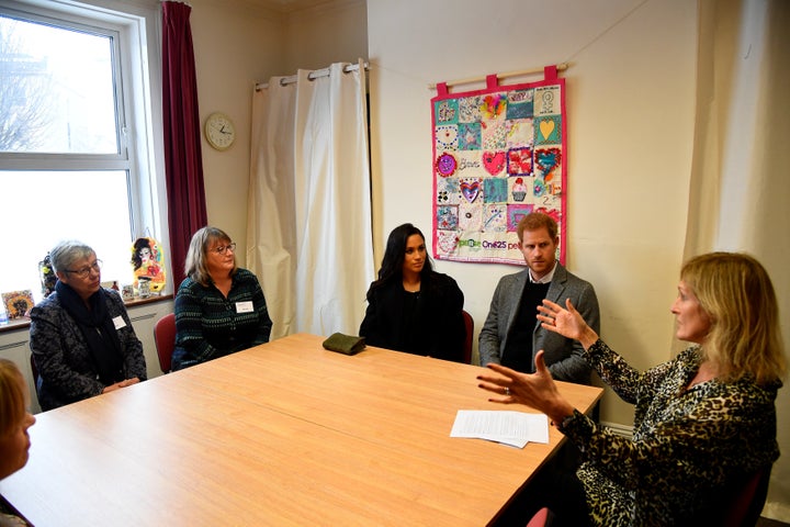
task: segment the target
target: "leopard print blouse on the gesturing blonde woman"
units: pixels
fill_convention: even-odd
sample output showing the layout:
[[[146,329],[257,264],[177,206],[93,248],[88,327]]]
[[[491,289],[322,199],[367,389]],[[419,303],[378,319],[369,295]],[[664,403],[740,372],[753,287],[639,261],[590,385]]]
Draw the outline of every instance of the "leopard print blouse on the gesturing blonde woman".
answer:
[[[587,360],[625,402],[635,404],[633,438],[575,412],[562,431],[582,451],[577,471],[591,520],[606,526],[684,525],[710,506],[726,481],[779,457],[775,399],[781,382],[710,380],[686,390],[699,347],[639,372],[601,340]]]

